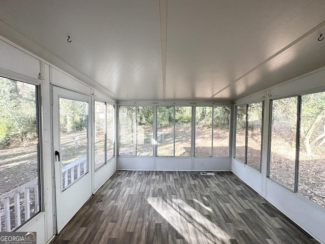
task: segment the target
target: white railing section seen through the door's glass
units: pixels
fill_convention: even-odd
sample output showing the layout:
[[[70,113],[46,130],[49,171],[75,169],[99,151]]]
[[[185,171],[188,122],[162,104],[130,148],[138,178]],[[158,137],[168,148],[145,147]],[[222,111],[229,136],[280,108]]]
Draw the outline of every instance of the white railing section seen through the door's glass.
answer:
[[[80,177],[80,175],[81,175],[81,165],[83,165],[83,174],[85,174],[86,171],[87,171],[87,155],[85,155],[82,158],[77,159],[76,161],[62,167],[62,175],[64,175],[63,180],[62,180],[63,189],[68,186],[68,176],[70,176],[70,178],[71,178],[70,184],[75,179],[78,179]],[[77,177],[76,178],[75,178],[75,167],[77,168]]]

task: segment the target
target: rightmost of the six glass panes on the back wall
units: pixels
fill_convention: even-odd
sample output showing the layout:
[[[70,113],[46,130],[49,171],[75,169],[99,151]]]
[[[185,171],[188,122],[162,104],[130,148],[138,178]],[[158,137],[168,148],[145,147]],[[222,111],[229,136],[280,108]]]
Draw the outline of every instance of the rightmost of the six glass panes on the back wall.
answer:
[[[213,108],[213,156],[229,156],[230,107]]]

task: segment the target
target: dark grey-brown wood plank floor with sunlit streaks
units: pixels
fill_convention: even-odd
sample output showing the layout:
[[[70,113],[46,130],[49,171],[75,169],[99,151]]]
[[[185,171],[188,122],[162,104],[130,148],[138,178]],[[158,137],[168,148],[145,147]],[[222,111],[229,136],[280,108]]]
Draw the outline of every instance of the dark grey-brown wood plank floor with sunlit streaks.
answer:
[[[232,172],[116,171],[52,240],[318,243]]]

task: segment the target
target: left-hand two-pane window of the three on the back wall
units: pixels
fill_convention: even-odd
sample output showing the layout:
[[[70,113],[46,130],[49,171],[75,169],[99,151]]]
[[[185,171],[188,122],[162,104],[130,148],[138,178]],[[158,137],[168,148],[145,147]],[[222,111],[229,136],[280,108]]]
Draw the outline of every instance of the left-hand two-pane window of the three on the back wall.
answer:
[[[153,155],[153,107],[119,107],[119,155]]]

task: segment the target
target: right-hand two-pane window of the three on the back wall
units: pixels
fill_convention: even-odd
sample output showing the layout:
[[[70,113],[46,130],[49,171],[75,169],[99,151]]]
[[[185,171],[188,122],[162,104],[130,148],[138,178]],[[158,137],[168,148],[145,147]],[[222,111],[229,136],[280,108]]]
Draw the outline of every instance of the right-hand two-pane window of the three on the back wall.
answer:
[[[230,107],[196,107],[196,157],[229,156],[230,111]]]

